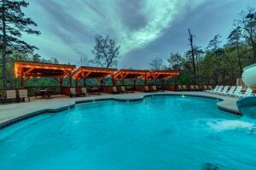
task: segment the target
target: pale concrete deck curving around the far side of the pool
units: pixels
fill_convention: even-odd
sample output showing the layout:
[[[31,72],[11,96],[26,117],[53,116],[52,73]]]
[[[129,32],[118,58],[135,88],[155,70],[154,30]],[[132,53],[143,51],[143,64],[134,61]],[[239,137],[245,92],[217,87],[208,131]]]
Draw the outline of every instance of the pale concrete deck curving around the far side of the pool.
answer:
[[[119,101],[141,100],[148,95],[188,95],[220,99],[218,108],[236,115],[241,115],[236,106],[236,98],[221,96],[216,94],[207,94],[205,92],[159,92],[159,93],[140,93],[140,94],[107,94],[79,98],[55,98],[38,99],[32,102],[0,105],[0,129],[8,127],[15,122],[20,122],[28,117],[37,116],[44,112],[58,112],[72,108],[77,103],[90,102],[96,100],[113,99]]]

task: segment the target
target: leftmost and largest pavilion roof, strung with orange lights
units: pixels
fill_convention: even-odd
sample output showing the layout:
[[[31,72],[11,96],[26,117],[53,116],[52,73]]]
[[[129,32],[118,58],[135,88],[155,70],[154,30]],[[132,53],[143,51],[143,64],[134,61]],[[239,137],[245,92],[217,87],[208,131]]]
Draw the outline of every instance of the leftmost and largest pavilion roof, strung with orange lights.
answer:
[[[66,77],[74,69],[75,65],[15,60],[15,77]]]

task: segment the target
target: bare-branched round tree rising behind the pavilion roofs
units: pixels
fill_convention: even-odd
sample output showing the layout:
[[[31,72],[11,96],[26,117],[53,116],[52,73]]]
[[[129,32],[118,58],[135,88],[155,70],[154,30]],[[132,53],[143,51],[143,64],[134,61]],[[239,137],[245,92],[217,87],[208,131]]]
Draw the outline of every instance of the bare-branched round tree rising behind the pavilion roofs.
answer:
[[[96,35],[95,42],[96,45],[91,51],[95,55],[93,63],[103,68],[117,66],[120,46],[116,46],[114,39]]]

